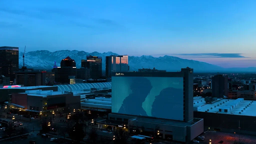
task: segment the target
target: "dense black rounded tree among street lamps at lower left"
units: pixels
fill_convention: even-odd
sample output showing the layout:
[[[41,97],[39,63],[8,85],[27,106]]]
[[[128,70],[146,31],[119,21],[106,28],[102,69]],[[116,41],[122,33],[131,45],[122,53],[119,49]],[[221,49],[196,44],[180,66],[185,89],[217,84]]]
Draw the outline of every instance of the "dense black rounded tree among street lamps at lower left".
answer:
[[[83,124],[79,124],[78,122],[69,129],[69,136],[77,141],[80,142],[84,138],[84,131],[83,131]]]

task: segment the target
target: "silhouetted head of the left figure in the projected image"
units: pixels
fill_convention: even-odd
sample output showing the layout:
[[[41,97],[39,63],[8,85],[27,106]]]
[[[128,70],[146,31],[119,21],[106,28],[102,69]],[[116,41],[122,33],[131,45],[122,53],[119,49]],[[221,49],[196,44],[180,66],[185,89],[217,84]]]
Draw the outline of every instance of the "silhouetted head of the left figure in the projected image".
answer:
[[[131,95],[136,96],[136,100],[143,102],[150,93],[152,85],[147,78],[138,77],[136,81],[133,81],[130,88],[132,90]]]

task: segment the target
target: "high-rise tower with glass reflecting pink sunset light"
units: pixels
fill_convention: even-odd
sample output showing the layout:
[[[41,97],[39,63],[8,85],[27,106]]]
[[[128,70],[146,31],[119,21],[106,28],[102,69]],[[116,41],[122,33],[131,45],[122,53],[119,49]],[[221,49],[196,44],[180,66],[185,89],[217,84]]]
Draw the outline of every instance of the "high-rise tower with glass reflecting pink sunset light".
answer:
[[[106,56],[106,77],[111,78],[112,72],[128,72],[128,55]]]

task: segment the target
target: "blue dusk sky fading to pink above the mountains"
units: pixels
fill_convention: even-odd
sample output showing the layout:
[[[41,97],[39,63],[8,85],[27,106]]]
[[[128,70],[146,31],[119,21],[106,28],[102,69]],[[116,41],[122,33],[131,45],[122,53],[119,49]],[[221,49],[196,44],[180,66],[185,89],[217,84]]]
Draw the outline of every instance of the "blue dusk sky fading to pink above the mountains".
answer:
[[[256,67],[256,1],[1,0],[0,46]]]

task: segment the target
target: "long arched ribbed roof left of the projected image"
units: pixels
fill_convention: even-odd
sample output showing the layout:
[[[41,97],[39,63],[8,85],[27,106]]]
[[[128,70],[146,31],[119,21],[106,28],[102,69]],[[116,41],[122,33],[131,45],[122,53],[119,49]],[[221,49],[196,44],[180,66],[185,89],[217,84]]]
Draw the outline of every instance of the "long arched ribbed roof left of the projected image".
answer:
[[[84,90],[84,89],[91,89],[91,88],[111,88],[111,82],[105,83],[79,83],[79,84],[72,84],[72,85],[55,85],[58,87],[58,91],[77,91],[77,90]]]

